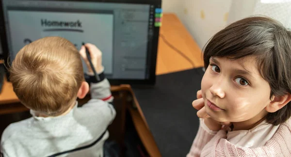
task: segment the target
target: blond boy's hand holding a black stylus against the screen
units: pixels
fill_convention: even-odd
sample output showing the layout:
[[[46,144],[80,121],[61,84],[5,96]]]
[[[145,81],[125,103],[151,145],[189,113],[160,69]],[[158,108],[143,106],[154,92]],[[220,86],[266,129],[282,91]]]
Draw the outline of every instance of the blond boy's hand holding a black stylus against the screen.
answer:
[[[88,49],[88,51],[90,53],[91,61],[94,65],[96,72],[98,74],[100,74],[104,69],[104,67],[102,66],[102,52],[95,45],[90,44],[90,43],[87,43],[87,44],[85,44],[85,46],[81,47],[79,53],[80,53],[81,57],[84,59],[86,65],[88,67],[88,72],[91,74],[93,73],[93,70],[91,68],[91,65],[90,65],[88,59],[87,59],[85,47]]]

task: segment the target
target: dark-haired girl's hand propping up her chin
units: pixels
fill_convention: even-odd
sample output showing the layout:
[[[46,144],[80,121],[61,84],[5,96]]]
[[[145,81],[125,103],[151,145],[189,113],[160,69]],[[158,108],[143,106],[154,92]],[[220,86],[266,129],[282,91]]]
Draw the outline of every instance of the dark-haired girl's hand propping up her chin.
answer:
[[[220,122],[217,122],[215,120],[213,120],[207,113],[206,113],[206,110],[205,110],[205,106],[204,106],[204,100],[202,98],[202,93],[201,93],[201,90],[199,90],[197,92],[197,99],[193,101],[192,103],[192,106],[198,110],[197,111],[197,116],[199,118],[204,118],[204,123],[205,125],[212,131],[218,131],[221,129],[221,127],[223,125],[225,126],[229,126],[230,123],[229,122],[226,122],[226,123],[220,123]]]

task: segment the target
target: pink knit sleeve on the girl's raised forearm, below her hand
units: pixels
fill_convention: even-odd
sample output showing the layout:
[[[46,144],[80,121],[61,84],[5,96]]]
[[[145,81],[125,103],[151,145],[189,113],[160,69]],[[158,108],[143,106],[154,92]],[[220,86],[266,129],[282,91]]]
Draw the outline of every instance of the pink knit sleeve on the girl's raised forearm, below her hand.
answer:
[[[204,146],[214,137],[217,131],[210,130],[204,123],[204,119],[200,118],[200,125],[197,132],[197,135],[193,141],[190,152],[186,157],[200,157],[201,151]],[[204,152],[207,153],[207,152]],[[211,153],[211,150],[208,151]]]

